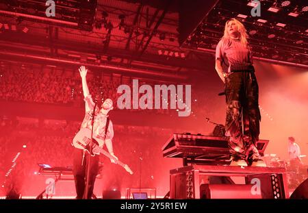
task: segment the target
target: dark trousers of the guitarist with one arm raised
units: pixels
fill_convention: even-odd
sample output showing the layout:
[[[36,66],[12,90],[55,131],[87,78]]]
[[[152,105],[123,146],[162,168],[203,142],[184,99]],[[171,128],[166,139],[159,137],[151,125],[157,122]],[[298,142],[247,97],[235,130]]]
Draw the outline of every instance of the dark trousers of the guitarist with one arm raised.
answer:
[[[93,188],[97,173],[99,171],[99,155],[92,157],[88,152],[84,155],[84,160],[82,160],[84,151],[81,149],[74,150],[74,160],[73,160],[73,174],[75,179],[75,187],[77,193],[77,199],[91,199],[93,194]],[[86,175],[88,169],[88,159],[91,158],[90,162],[90,175],[89,175],[89,190],[88,196],[84,196],[86,192]]]

